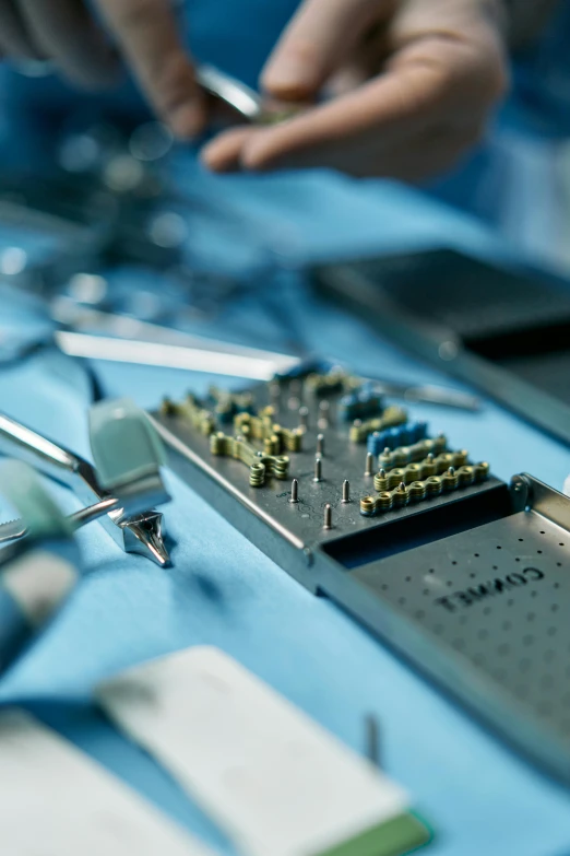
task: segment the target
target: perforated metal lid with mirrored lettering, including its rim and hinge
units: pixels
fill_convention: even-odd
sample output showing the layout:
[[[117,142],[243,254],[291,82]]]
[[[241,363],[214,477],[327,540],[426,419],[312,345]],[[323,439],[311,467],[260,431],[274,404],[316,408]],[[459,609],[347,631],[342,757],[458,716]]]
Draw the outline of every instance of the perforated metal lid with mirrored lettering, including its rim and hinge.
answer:
[[[388,605],[393,643],[568,781],[570,500],[516,478],[533,485],[526,511],[402,544],[352,576],[370,602]]]

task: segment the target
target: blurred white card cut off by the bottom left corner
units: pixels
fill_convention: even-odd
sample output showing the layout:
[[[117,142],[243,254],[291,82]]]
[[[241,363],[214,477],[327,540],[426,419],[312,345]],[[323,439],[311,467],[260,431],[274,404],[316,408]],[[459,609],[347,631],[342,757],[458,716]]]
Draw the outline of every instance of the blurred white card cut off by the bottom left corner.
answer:
[[[212,856],[201,843],[27,713],[0,712],[5,856]]]

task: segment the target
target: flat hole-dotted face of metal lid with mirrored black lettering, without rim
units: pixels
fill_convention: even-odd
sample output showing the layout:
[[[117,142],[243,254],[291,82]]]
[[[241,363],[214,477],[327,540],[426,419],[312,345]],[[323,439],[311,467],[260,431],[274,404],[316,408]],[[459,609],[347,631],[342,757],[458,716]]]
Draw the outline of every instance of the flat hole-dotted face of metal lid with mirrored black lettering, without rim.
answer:
[[[523,525],[521,535],[520,525],[489,524],[485,537],[448,539],[444,553],[437,542],[418,548],[421,566],[407,555],[401,576],[387,571],[389,599],[570,749],[570,540],[532,514]]]

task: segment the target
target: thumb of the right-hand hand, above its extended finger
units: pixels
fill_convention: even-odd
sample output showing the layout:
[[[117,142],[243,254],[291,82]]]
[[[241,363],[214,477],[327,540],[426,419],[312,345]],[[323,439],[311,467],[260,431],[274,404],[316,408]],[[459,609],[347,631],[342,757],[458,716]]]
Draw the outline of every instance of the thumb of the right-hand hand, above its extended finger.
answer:
[[[277,98],[314,96],[392,5],[388,0],[305,0],[265,66],[263,87]]]

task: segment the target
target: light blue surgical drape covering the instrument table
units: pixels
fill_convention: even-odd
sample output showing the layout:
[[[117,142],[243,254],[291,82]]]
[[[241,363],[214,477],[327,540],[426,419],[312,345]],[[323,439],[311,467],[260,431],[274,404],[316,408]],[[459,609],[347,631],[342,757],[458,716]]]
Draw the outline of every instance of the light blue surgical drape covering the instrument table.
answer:
[[[358,225],[366,232],[372,214],[366,190],[323,178],[321,206],[318,177],[307,180],[312,183],[310,196],[297,198],[295,184],[290,198],[280,188],[285,210],[296,211],[295,220],[305,224],[306,251],[313,241],[317,255],[323,251],[319,236],[326,227],[332,243],[344,235],[346,253],[351,236],[360,248]],[[238,184],[228,181],[236,204]],[[273,216],[277,179],[245,181],[244,207],[262,209],[265,187]],[[253,190],[257,201],[251,199]],[[342,206],[328,204],[333,190]],[[378,203],[376,221],[390,223],[394,245],[402,242],[403,246],[406,235],[412,245],[426,242],[424,220],[432,237],[443,226],[451,234],[455,223],[458,244],[463,235],[475,246],[494,245],[472,224],[454,221],[450,212],[430,208],[421,199],[416,202],[425,215],[411,221],[406,200],[411,202],[413,196],[404,191],[399,204],[396,189],[389,186],[387,208]],[[465,245],[470,246],[468,239]],[[381,235],[379,248],[387,248]],[[292,295],[294,320],[308,349],[347,361],[357,371],[381,365],[394,377],[446,383],[367,328],[316,302],[302,285],[297,283]],[[259,329],[264,310],[263,301],[258,303]],[[230,318],[219,323],[218,332],[226,331],[225,325],[236,338]],[[275,347],[288,336],[287,329],[281,338],[275,335]],[[244,338],[256,341],[249,329]],[[214,379],[105,363],[96,367],[108,395],[128,394],[145,407],[154,406],[165,391],[181,395],[189,386],[204,391]],[[238,385],[235,379],[229,383]],[[4,368],[0,400],[14,417],[86,452],[87,401],[46,367],[43,355]],[[487,403],[478,415],[430,407],[414,407],[412,415],[447,431],[453,444],[468,447],[475,457],[489,459],[503,478],[530,469],[559,488],[570,471],[567,448],[495,404]],[[223,833],[88,706],[93,685],[122,668],[188,645],[218,645],[357,751],[363,748],[364,715],[377,713],[388,773],[409,788],[414,804],[439,832],[434,856],[563,856],[570,848],[570,800],[565,788],[511,754],[333,605],[305,591],[190,488],[175,477],[169,483],[174,503],[165,512],[174,568],[161,571],[141,558],[124,555],[97,525],[83,530],[83,582],[40,640],[4,676],[2,702],[32,704],[46,722],[114,773],[212,846],[230,854]],[[67,491],[55,485],[52,490],[67,507],[76,506]]]

